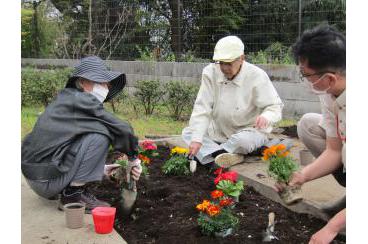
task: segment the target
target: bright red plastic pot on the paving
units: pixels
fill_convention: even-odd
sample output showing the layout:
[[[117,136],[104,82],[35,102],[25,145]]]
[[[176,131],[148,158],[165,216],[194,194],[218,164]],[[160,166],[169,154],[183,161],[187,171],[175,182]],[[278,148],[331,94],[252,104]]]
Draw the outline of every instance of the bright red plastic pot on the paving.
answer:
[[[96,207],[92,210],[95,231],[98,234],[108,234],[114,226],[116,208]]]

